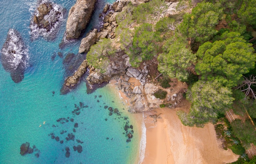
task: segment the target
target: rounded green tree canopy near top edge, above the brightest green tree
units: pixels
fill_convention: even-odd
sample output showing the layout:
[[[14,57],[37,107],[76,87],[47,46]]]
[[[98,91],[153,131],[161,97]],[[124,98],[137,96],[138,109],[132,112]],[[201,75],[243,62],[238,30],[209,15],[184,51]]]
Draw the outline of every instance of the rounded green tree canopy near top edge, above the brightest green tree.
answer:
[[[218,33],[215,26],[222,17],[222,10],[216,3],[210,2],[198,3],[197,7],[192,9],[192,13],[186,13],[179,30],[184,37],[195,39],[196,42],[204,43],[212,39]]]

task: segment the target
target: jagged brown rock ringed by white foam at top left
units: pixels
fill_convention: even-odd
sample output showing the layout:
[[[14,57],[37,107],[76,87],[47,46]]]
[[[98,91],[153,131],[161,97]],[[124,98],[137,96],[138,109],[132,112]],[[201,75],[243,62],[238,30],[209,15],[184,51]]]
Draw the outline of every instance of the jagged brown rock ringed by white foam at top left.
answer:
[[[61,6],[48,0],[41,1],[32,16],[31,38],[36,39],[41,35],[46,39],[54,39],[56,31],[58,31],[58,24],[64,20],[65,13],[66,10]]]

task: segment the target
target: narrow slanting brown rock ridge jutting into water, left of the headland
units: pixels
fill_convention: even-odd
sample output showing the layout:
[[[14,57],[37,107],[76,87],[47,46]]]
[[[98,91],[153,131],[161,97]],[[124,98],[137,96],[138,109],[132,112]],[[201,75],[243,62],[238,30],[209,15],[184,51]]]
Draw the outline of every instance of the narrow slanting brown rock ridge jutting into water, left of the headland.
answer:
[[[78,70],[76,70],[74,75],[67,77],[67,79],[65,79],[63,87],[61,88],[61,94],[67,94],[68,92],[70,92],[70,90],[74,89],[77,83],[79,83],[83,74],[86,72],[87,68],[88,68],[88,62],[87,60],[84,60],[79,66]]]

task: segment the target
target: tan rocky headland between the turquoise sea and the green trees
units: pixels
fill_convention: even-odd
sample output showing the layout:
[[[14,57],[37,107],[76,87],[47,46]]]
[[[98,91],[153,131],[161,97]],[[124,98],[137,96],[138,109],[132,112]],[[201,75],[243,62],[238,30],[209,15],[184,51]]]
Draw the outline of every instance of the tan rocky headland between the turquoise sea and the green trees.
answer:
[[[103,17],[103,26],[97,30],[93,29],[90,31],[85,38],[82,39],[79,53],[85,53],[90,50],[90,47],[97,43],[101,38],[110,38],[113,41],[112,46],[116,48],[116,53],[114,57],[110,57],[110,64],[104,73],[99,72],[99,70],[94,69],[93,67],[89,68],[89,75],[86,80],[89,83],[91,88],[94,87],[95,84],[100,84],[103,82],[108,82],[114,79],[114,83],[117,89],[128,98],[130,103],[129,112],[145,112],[150,111],[159,107],[161,104],[165,104],[167,107],[175,107],[178,103],[181,102],[183,98],[183,94],[187,89],[185,83],[181,83],[176,79],[173,79],[173,84],[169,88],[162,88],[159,86],[155,77],[160,75],[157,71],[157,59],[154,57],[150,61],[144,61],[141,63],[139,68],[133,68],[130,64],[130,57],[118,46],[118,39],[116,38],[115,28],[117,28],[118,24],[116,22],[117,13],[121,12],[123,8],[126,7],[126,3],[131,2],[134,5],[138,5],[140,3],[147,2],[147,0],[142,1],[133,1],[133,0],[121,0],[114,2],[112,5],[106,4],[103,9],[103,12],[99,15]],[[77,2],[78,3],[78,2]],[[169,8],[167,9],[168,14],[172,14],[175,11],[175,6],[177,2],[166,2],[169,4]],[[81,10],[81,8],[79,8]],[[74,10],[76,12],[79,11],[76,8],[76,5],[72,7],[72,11],[69,14],[69,20],[76,20],[77,16],[72,16]],[[70,24],[67,22],[67,28]],[[76,21],[76,26],[79,22]],[[130,28],[134,28],[136,24],[131,26]],[[70,35],[67,35],[67,39],[77,38],[81,34],[81,30],[77,30],[77,28],[72,28],[76,30],[69,30]],[[76,37],[70,37],[76,36]],[[85,61],[84,61],[85,62]],[[75,74],[71,77],[68,77],[63,84],[62,94],[74,89],[77,83],[80,81],[81,76],[77,76],[76,74],[83,74],[85,72],[84,67],[85,63],[82,63],[81,66],[83,69],[79,67],[79,69],[75,72]],[[86,62],[87,64],[87,62]],[[139,81],[140,85],[134,86],[130,79],[135,79]],[[154,96],[154,93],[158,90],[164,90],[167,92],[166,98],[159,99]]]

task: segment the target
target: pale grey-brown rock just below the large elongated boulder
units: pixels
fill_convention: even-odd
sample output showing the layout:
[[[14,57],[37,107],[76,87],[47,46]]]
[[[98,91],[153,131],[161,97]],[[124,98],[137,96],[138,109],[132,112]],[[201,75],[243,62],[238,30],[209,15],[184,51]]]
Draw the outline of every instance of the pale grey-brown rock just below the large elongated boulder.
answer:
[[[97,29],[94,29],[92,32],[88,33],[86,37],[81,40],[79,47],[79,53],[88,52],[92,45],[96,43],[97,39]]]

